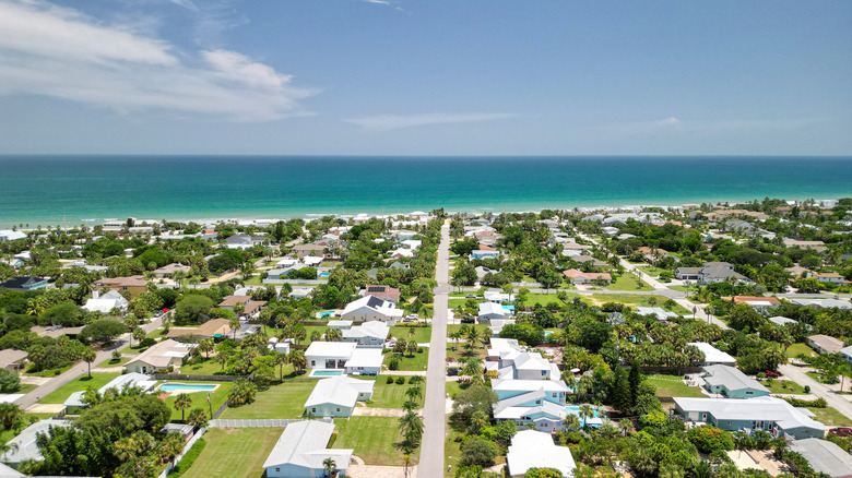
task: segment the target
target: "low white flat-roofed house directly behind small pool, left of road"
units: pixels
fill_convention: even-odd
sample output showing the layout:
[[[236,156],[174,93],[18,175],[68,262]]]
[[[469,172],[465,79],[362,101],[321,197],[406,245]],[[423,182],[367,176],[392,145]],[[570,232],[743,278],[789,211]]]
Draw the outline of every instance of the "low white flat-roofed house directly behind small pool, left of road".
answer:
[[[344,370],[347,374],[376,375],[384,357],[378,348],[358,348],[354,342],[313,342],[305,350],[308,368]]]

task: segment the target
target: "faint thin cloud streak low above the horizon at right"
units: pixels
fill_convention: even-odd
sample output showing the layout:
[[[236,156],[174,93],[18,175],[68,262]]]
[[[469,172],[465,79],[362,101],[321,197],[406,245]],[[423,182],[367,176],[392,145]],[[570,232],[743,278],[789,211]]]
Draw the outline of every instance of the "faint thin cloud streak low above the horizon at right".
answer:
[[[798,118],[798,119],[769,119],[769,120],[722,120],[722,121],[700,121],[700,120],[681,120],[675,117],[668,117],[661,120],[636,121],[627,123],[611,124],[603,130],[615,134],[642,135],[642,134],[663,134],[663,133],[694,133],[694,134],[719,134],[719,133],[748,133],[761,131],[791,131],[814,123],[824,121],[818,118]]]

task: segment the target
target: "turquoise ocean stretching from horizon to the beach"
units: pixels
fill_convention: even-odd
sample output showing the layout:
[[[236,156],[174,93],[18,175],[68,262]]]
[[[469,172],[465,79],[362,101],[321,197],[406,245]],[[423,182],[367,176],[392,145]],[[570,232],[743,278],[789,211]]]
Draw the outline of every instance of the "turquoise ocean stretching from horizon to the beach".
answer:
[[[0,156],[0,226],[852,196],[852,157]]]

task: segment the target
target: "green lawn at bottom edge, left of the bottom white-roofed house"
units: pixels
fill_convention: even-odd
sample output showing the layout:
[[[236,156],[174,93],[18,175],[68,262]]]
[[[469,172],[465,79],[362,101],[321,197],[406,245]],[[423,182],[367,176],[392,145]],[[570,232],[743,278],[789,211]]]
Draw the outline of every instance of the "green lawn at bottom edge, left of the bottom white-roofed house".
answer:
[[[261,477],[263,462],[282,431],[283,428],[211,428],[204,434],[206,446],[184,477]]]

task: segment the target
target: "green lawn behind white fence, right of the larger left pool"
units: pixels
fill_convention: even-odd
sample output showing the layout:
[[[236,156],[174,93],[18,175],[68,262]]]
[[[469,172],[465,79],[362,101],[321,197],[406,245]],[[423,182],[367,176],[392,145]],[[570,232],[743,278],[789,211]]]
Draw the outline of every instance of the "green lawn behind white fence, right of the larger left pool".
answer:
[[[306,375],[285,379],[281,384],[258,392],[253,403],[226,409],[222,418],[299,418],[316,384],[317,379],[308,379]]]

